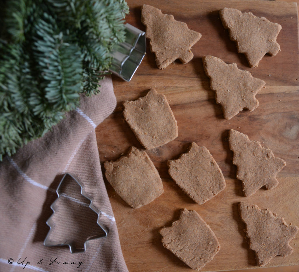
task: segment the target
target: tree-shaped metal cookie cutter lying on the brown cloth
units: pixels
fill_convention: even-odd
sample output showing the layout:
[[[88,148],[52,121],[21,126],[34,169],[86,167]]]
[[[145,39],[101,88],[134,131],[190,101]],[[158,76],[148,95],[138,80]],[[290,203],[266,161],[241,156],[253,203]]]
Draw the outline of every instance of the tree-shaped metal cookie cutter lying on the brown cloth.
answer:
[[[98,235],[98,236],[95,236],[95,237],[92,237],[92,238],[89,238],[85,241],[84,243],[84,249],[77,249],[74,247],[74,241],[73,240],[63,240],[63,241],[51,241],[50,240],[50,232],[51,232],[51,229],[54,228],[54,222],[53,222],[53,216],[55,214],[55,211],[57,210],[57,200],[60,196],[63,196],[63,194],[61,194],[61,185],[63,183],[63,181],[65,180],[65,178],[67,176],[70,176],[73,180],[75,180],[81,187],[81,195],[83,195],[84,197],[86,197],[86,199],[90,200],[90,204],[89,204],[89,208],[91,208],[94,212],[97,213],[98,215],[98,218],[97,218],[97,224],[100,226],[100,228],[103,230],[104,234],[103,235]],[[71,175],[69,173],[66,173],[62,180],[60,181],[57,189],[56,189],[56,193],[58,195],[58,198],[52,203],[51,205],[51,209],[53,210],[53,214],[50,216],[50,218],[47,220],[47,225],[50,227],[50,230],[45,238],[45,241],[44,241],[44,245],[45,246],[66,246],[68,245],[69,248],[70,248],[70,251],[71,253],[75,253],[75,252],[83,252],[86,250],[86,247],[88,246],[88,243],[90,240],[94,240],[94,239],[97,239],[97,238],[100,238],[100,237],[106,237],[108,235],[108,230],[100,223],[100,211],[97,210],[97,208],[94,207],[94,205],[92,204],[92,201],[93,199],[91,197],[89,197],[85,192],[84,192],[84,187],[82,185],[82,183],[76,179],[74,177],[74,175]],[[68,196],[69,197],[69,196]]]

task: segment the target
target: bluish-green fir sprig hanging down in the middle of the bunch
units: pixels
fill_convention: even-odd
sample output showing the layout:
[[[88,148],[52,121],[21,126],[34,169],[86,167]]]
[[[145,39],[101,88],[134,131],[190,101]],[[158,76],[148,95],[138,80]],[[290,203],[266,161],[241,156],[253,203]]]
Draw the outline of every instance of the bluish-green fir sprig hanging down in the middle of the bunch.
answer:
[[[65,42],[54,18],[46,13],[44,20],[37,22],[35,31],[33,51],[41,88],[47,99],[44,105],[50,104],[56,111],[70,111],[79,105],[78,92],[82,87],[80,48]],[[39,111],[39,114],[43,113]]]

